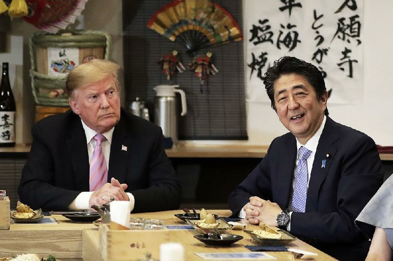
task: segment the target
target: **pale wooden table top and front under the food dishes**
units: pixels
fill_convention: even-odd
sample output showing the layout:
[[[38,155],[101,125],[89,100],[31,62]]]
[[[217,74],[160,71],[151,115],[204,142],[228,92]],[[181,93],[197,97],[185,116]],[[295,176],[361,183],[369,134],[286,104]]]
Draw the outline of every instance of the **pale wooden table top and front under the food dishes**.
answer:
[[[167,225],[185,224],[173,216],[180,210],[131,214],[131,217],[158,218]],[[228,216],[229,210],[208,210],[220,216]],[[21,253],[36,253],[40,256],[54,255],[57,259],[80,259],[84,261],[102,260],[98,251],[98,229],[91,223],[73,223],[60,215],[53,215],[58,224],[11,224],[9,231],[0,231],[0,257],[10,257]],[[247,229],[257,228],[247,225]],[[193,237],[194,230],[181,231],[179,242],[186,249],[186,261],[201,260],[194,253],[249,252],[245,245],[255,244],[251,237],[243,231],[229,231],[230,234],[243,235],[244,238],[230,247],[206,246]],[[318,253],[315,260],[334,260],[325,253],[297,239],[288,247]],[[290,252],[269,252],[279,260],[294,260]]]

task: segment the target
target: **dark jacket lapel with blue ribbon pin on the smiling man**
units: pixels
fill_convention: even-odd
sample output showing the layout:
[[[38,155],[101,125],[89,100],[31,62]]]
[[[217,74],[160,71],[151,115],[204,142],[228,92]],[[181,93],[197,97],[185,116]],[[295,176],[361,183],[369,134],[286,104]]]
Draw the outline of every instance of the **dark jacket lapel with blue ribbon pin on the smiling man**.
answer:
[[[330,165],[336,155],[337,148],[333,145],[339,139],[337,127],[329,117],[319,138],[307,191],[306,211],[315,212],[318,207],[319,189],[329,172]],[[325,162],[324,162],[325,161]],[[323,167],[324,165],[324,167]]]

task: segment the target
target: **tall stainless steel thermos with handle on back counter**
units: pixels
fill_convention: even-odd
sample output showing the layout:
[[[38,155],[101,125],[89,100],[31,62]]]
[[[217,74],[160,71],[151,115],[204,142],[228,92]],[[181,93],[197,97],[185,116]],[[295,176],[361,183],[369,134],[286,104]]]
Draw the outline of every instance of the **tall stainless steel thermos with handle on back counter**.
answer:
[[[186,94],[177,89],[179,85],[158,85],[153,89],[157,92],[154,98],[154,122],[163,130],[164,137],[171,138],[173,147],[178,145],[176,93],[181,98],[181,116],[187,113]]]

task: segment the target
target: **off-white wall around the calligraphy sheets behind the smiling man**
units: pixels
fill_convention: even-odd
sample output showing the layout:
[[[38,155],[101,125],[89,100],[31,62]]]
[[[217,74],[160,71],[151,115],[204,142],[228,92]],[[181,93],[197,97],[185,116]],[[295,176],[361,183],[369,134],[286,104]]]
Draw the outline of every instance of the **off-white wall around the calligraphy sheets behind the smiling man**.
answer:
[[[392,0],[364,0],[363,100],[350,105],[328,102],[333,120],[365,132],[382,146],[393,146],[392,9]],[[267,145],[287,132],[270,104],[248,103],[247,108],[249,143]]]

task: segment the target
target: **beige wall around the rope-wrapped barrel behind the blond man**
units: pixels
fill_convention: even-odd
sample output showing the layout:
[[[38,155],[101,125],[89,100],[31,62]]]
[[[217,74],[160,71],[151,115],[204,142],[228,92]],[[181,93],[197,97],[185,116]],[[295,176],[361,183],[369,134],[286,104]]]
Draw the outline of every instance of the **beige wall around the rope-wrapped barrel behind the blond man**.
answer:
[[[123,64],[122,46],[122,6],[121,0],[90,0],[86,3],[83,14],[83,29],[106,31],[112,36],[110,59]],[[79,26],[81,26],[80,24]],[[78,23],[71,27],[78,26]],[[82,28],[81,28],[82,29]],[[28,24],[23,19],[13,19],[9,36],[23,36],[23,68],[17,72],[17,80],[23,82],[13,86],[14,93],[18,95],[17,101],[17,143],[31,143],[30,129],[34,122],[35,107],[31,92],[29,70],[31,67],[28,42],[34,32],[39,29]],[[20,50],[22,52],[22,50]],[[0,54],[1,55],[1,54]],[[1,57],[1,56],[0,56]],[[121,77],[122,78],[122,77]],[[123,84],[123,82],[121,82]],[[122,94],[124,101],[124,93]]]

